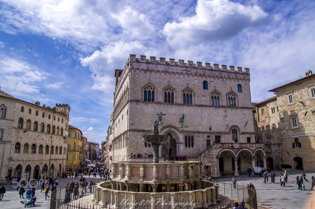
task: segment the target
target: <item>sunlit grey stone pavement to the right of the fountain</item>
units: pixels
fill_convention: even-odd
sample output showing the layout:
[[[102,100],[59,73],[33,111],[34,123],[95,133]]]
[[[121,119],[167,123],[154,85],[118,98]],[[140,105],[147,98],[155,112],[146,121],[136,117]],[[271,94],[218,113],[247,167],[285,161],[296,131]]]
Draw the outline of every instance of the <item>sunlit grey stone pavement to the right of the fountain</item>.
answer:
[[[296,208],[296,209],[310,209],[311,201],[315,204],[315,191],[311,190],[312,180],[311,177],[315,176],[314,172],[305,172],[306,179],[303,184],[305,185],[304,190],[298,190],[296,184],[296,176],[301,176],[302,171],[289,171],[288,172],[288,182],[285,187],[280,187],[279,175],[281,171],[272,170],[276,174],[275,184],[271,184],[269,179],[268,184],[263,184],[263,177],[247,177],[246,175],[241,175],[236,177],[238,183],[252,182],[257,191],[257,203],[261,206],[270,207],[272,209],[285,209],[285,208]],[[283,172],[283,171],[282,171]],[[218,179],[220,181],[232,181],[232,177]],[[315,190],[315,186],[313,188]],[[312,208],[315,208],[313,206]]]

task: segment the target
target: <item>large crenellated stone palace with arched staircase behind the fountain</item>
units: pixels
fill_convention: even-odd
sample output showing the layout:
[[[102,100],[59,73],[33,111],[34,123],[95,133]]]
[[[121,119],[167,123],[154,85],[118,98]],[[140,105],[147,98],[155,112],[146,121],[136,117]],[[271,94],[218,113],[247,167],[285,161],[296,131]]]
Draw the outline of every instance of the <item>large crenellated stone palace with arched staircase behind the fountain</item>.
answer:
[[[248,68],[130,54],[115,77],[108,163],[152,153],[142,135],[159,119],[161,134],[171,136],[160,157],[201,160],[212,176],[244,173],[257,153],[266,165],[264,144],[255,143]]]

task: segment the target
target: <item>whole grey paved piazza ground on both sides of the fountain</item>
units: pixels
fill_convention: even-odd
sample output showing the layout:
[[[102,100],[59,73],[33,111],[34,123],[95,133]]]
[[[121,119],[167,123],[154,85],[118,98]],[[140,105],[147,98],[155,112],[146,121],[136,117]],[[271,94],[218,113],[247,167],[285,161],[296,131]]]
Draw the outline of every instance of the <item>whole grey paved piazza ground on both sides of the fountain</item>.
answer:
[[[306,172],[306,179],[309,182],[305,182],[305,189],[306,191],[297,190],[296,180],[295,177],[297,175],[301,175],[302,172],[299,171],[289,171],[289,178],[288,183],[285,187],[280,187],[280,182],[278,176],[280,171],[274,171],[276,174],[276,184],[263,184],[264,179],[262,177],[247,177],[246,175],[241,175],[237,177],[239,183],[248,183],[251,181],[256,190],[257,190],[257,202],[258,205],[270,207],[272,209],[284,209],[284,208],[303,208],[308,209],[310,208],[311,201],[315,203],[315,190],[311,190],[311,177],[315,176],[315,173],[308,173]],[[85,176],[87,177],[87,176]],[[71,180],[79,180],[76,178],[66,178],[66,179],[59,179],[59,185],[65,185],[70,183]],[[231,180],[232,177],[226,177],[219,179],[220,181],[227,181]],[[88,181],[95,180],[99,181],[99,178],[87,178]],[[18,209],[24,208],[24,205],[20,203],[20,195],[13,188],[12,185],[5,185],[6,193],[3,197],[3,201],[0,202],[1,208],[4,209]],[[315,187],[314,187],[315,188]],[[40,193],[41,186],[38,185],[36,187],[36,206],[35,207],[42,207],[42,208],[49,208],[50,199],[45,200],[44,193]],[[49,196],[50,196],[49,192]],[[25,197],[25,193],[24,193]],[[315,208],[315,207],[314,207]]]

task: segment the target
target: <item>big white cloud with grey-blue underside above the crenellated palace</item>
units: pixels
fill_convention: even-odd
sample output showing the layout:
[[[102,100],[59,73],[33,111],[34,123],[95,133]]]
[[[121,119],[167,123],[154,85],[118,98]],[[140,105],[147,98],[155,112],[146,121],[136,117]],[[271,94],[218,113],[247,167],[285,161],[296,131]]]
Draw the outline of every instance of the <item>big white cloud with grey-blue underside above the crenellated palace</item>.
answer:
[[[198,0],[196,15],[166,23],[163,33],[171,45],[194,45],[205,41],[237,36],[249,26],[266,21],[267,14],[258,6],[243,6],[228,0]]]

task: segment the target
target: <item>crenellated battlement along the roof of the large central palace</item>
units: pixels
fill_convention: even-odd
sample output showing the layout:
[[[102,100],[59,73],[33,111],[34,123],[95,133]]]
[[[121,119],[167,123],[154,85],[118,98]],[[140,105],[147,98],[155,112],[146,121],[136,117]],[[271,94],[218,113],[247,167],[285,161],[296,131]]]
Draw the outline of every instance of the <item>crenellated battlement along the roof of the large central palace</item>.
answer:
[[[150,63],[150,64],[163,64],[163,65],[173,65],[173,66],[182,66],[187,68],[196,68],[196,69],[206,69],[206,70],[218,70],[218,71],[224,71],[224,72],[231,72],[231,73],[242,73],[242,74],[249,74],[249,68],[242,67],[235,67],[229,66],[227,69],[226,65],[221,65],[221,68],[219,68],[219,64],[213,64],[211,66],[210,63],[204,63],[204,66],[202,65],[202,62],[196,62],[188,60],[187,63],[185,63],[185,60],[179,59],[178,62],[175,62],[175,59],[169,58],[169,61],[166,61],[165,58],[160,57],[159,60],[156,60],[156,57],[150,57],[150,59],[146,59],[145,55],[140,55],[140,58],[136,58],[135,54],[130,54],[129,58],[127,60],[127,63],[129,62],[140,62],[140,63]]]

